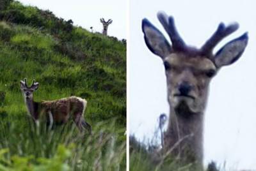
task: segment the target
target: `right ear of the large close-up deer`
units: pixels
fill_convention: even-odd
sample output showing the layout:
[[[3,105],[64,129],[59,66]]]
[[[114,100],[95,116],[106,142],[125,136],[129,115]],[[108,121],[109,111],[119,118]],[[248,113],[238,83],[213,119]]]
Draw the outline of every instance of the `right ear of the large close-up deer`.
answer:
[[[228,42],[215,55],[214,61],[218,68],[229,65],[237,61],[244,52],[248,43],[248,33],[244,33],[239,38]]]

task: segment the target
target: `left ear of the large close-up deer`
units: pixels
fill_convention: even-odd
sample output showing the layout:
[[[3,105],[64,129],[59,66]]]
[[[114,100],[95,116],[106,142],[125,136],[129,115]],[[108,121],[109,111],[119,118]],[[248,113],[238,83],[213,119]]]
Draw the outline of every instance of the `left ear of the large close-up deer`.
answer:
[[[164,58],[171,53],[171,46],[155,26],[147,19],[142,20],[142,31],[147,47],[157,56]]]

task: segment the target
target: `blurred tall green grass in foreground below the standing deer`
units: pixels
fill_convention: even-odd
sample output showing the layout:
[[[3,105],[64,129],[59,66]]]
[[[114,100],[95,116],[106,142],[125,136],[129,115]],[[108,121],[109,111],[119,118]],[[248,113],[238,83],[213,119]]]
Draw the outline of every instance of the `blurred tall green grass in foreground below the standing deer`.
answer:
[[[10,120],[15,118],[10,118]],[[7,149],[0,157],[0,170],[36,170],[38,167],[63,170],[125,170],[124,141],[118,140],[115,122],[99,123],[92,135],[79,133],[76,124],[56,126],[54,130],[44,123],[39,126],[31,117],[16,118],[24,128],[9,119],[0,121],[0,149]],[[105,129],[105,128],[112,128]],[[60,154],[62,151],[63,154]],[[3,151],[2,151],[3,153]],[[1,151],[0,151],[1,156]],[[18,161],[19,160],[19,161]],[[57,163],[52,163],[58,161]],[[22,165],[17,165],[22,162]]]

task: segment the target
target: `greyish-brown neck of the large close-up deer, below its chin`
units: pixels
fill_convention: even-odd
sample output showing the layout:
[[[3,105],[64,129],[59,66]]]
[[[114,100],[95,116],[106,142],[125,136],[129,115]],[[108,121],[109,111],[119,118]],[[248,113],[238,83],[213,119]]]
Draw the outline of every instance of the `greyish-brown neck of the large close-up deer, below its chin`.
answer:
[[[170,105],[169,125],[165,144],[172,154],[185,162],[202,164],[204,113],[192,112],[185,103],[176,108]]]

